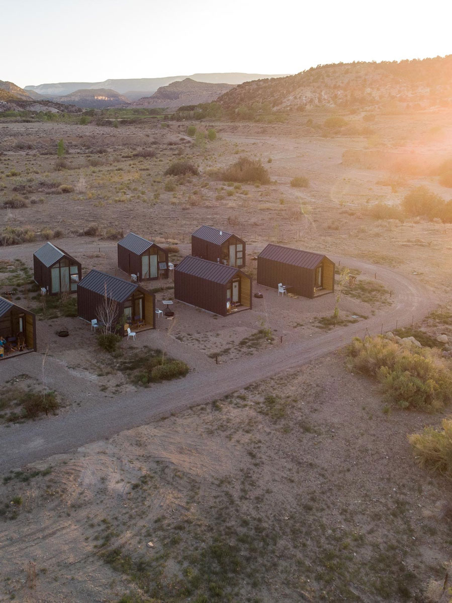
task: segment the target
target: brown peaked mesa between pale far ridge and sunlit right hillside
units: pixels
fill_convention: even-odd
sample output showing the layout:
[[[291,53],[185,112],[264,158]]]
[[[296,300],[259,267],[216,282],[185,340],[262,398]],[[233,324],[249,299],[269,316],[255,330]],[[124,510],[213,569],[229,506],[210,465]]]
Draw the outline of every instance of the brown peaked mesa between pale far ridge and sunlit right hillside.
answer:
[[[145,96],[132,103],[133,107],[169,107],[177,109],[182,105],[211,103],[218,96],[234,88],[234,84],[212,84],[185,78],[161,86],[152,96]]]

